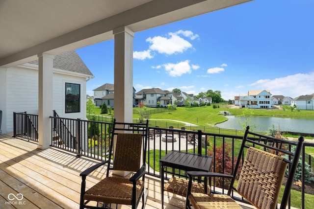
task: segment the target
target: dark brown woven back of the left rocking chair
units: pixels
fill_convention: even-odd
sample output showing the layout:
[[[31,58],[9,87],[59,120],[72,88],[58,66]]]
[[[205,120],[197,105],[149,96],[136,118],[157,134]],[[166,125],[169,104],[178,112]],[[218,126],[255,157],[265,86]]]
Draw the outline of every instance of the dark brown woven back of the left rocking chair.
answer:
[[[117,135],[113,170],[136,172],[140,168],[142,140],[141,134]]]

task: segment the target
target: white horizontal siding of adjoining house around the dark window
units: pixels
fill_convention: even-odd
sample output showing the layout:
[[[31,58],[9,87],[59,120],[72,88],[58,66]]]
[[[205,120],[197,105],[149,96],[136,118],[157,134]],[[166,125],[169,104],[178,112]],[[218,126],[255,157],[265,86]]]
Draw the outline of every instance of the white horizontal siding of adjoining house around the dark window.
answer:
[[[53,110],[60,117],[81,118],[86,119],[86,78],[75,75],[67,75],[59,72],[53,72]],[[0,110],[6,109],[6,114],[2,117],[2,130],[5,132],[13,132],[13,112],[28,114],[38,114],[38,69],[31,67],[12,67],[6,70],[6,73],[1,72],[1,75],[6,76],[6,97],[2,104],[6,104],[5,108],[0,106]],[[3,77],[1,77],[3,79]],[[65,114],[65,83],[80,84],[80,113]],[[53,113],[51,113],[52,115]],[[3,121],[6,121],[3,123]],[[5,126],[5,128],[3,128]]]

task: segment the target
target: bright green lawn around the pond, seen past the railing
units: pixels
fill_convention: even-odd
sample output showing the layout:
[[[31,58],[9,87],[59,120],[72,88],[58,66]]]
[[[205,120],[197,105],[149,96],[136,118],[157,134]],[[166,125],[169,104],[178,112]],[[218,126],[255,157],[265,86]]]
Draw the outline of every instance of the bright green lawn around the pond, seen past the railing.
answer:
[[[291,111],[289,106],[283,106],[284,110],[253,110],[252,116],[279,116],[279,117],[312,117],[314,118],[314,111],[310,110],[300,110],[300,111]],[[138,108],[133,108],[138,109]],[[149,109],[155,109],[155,108],[147,108]],[[199,126],[209,126],[214,125],[216,123],[224,122],[227,120],[227,117],[220,115],[219,111],[229,111],[233,115],[241,115],[243,109],[229,109],[227,107],[220,106],[220,108],[214,109],[213,106],[203,106],[203,107],[177,107],[176,110],[165,112],[165,113],[157,113],[152,114],[150,116],[151,121],[154,121],[154,119],[162,119],[160,121],[167,122],[168,119],[172,120],[179,120],[179,121],[186,121],[189,123],[197,124]],[[95,115],[102,115],[102,116],[113,116],[114,111],[110,114],[100,114],[101,109],[97,107],[95,109]],[[133,119],[139,118],[138,114],[133,114]],[[159,120],[158,120],[159,121]],[[169,121],[168,121],[169,122]],[[176,122],[178,123],[178,122]],[[291,136],[293,137],[293,136]],[[297,136],[295,136],[297,137]],[[213,143],[212,139],[209,139],[211,143]],[[240,143],[235,143],[235,153],[238,147],[240,146]],[[150,150],[148,152],[148,155],[150,156],[150,164],[155,164],[156,171],[159,171],[159,152],[161,153],[161,157],[165,155],[165,151],[161,150]],[[205,153],[205,150],[203,150]],[[314,155],[314,147],[306,147],[306,153]],[[148,156],[147,156],[148,157]],[[282,187],[283,192],[284,186]],[[281,193],[282,195],[282,193]],[[301,192],[291,190],[291,205],[295,208],[301,208]],[[311,206],[314,205],[314,195],[305,194],[306,196],[306,202],[305,202],[305,208],[311,208]]]

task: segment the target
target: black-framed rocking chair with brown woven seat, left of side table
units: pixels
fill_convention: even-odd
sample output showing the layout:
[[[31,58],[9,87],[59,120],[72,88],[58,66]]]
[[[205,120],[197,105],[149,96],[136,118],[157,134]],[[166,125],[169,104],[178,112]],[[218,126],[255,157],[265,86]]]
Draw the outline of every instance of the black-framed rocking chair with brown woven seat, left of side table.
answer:
[[[132,209],[136,209],[141,199],[143,209],[148,191],[144,188],[148,120],[143,124],[116,122],[114,119],[110,139],[108,160],[80,173],[82,177],[80,209],[96,209],[104,206],[111,208],[111,204],[131,205]],[[114,140],[116,140],[115,145]],[[113,145],[115,146],[114,153]],[[107,166],[106,177],[85,191],[87,175],[105,164]],[[110,170],[131,171],[134,175],[131,178],[125,178],[112,175],[111,172],[109,173]],[[97,202],[97,206],[91,206],[89,204],[91,201]]]

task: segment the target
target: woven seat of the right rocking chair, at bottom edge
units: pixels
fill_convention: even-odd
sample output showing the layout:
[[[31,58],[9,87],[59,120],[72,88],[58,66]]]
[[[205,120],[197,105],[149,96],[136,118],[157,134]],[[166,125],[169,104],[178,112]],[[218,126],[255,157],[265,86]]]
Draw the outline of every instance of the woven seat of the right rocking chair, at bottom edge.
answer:
[[[230,196],[224,194],[192,193],[188,199],[194,209],[242,209]]]

